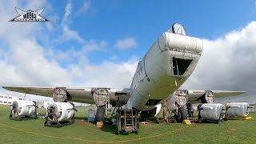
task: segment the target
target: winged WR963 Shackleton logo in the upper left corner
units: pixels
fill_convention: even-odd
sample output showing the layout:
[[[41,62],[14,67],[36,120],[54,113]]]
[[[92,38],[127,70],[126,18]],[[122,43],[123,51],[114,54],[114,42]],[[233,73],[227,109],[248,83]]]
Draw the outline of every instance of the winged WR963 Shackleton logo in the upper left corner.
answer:
[[[33,11],[33,10],[19,10],[15,7],[17,13],[19,14],[17,17],[11,19],[9,22],[50,22],[47,18],[43,18],[40,14],[42,14],[45,8],[41,10]]]

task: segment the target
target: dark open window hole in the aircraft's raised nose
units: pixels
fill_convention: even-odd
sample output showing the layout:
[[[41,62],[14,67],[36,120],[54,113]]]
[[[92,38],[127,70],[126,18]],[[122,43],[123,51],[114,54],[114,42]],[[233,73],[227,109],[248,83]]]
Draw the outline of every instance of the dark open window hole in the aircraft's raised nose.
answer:
[[[183,75],[191,62],[192,59],[173,58],[174,75]]]

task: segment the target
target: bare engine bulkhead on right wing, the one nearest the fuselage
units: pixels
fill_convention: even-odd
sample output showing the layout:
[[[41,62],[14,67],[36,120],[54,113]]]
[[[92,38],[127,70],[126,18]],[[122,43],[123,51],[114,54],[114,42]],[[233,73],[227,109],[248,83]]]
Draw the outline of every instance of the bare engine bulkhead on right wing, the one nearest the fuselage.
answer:
[[[178,107],[185,107],[186,102],[188,101],[187,90],[176,90],[175,99],[176,99],[176,104],[178,104]]]

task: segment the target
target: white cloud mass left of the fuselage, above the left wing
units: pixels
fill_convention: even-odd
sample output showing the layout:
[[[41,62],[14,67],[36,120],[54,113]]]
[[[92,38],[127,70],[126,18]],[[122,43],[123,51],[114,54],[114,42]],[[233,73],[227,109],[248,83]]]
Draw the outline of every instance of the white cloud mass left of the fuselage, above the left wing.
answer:
[[[1,57],[0,86],[114,86],[121,88],[130,86],[138,63],[136,58],[131,58],[127,62],[105,61],[99,65],[90,64],[86,59],[86,52],[104,50],[108,45],[105,40],[84,41],[81,50],[71,49],[67,52],[59,50],[56,54],[40,45],[36,39],[38,34],[43,34],[42,25],[7,22],[13,17],[14,4],[0,2],[1,8],[3,5],[5,9],[0,9],[0,16],[3,18],[3,22],[0,23],[0,38],[8,46],[7,50],[4,50],[8,56]],[[6,9],[13,10],[10,12]],[[70,8],[67,8],[66,15],[69,14]],[[70,32],[68,29],[66,31],[73,38],[79,39],[74,31]],[[71,62],[65,68],[60,66],[58,59],[69,57],[71,60],[79,58],[78,64]]]

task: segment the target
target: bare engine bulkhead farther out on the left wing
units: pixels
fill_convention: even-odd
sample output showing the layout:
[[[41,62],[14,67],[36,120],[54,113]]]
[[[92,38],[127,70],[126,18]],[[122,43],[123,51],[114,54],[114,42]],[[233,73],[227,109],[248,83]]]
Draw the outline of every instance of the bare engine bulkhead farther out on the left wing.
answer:
[[[56,87],[53,93],[54,102],[67,102],[67,93],[65,87]]]

